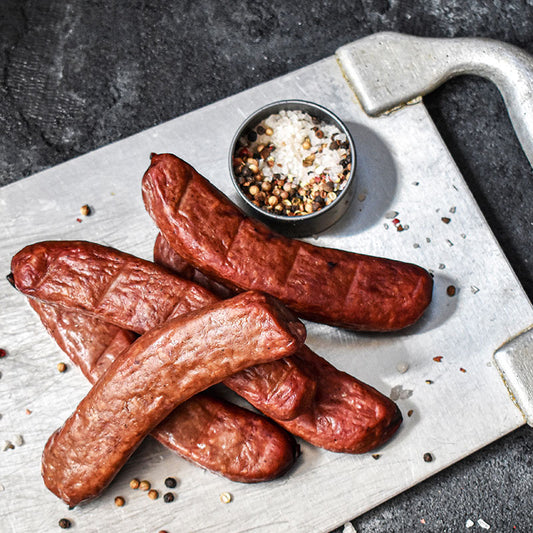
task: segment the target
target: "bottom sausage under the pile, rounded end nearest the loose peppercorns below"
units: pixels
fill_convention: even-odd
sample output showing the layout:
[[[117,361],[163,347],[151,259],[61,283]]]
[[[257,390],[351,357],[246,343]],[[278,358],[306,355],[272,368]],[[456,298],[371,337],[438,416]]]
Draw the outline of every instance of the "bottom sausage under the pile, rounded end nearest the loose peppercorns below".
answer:
[[[92,384],[137,338],[135,333],[93,316],[31,298],[29,303]],[[299,447],[287,431],[264,416],[208,393],[182,403],[151,435],[184,459],[244,483],[281,476],[299,455]]]

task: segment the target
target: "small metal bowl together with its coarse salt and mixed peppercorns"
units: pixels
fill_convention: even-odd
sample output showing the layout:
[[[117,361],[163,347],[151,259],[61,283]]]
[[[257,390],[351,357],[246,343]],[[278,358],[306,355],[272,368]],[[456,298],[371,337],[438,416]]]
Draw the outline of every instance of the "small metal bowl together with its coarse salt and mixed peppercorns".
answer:
[[[341,120],[302,100],[269,104],[237,131],[230,173],[244,210],[291,237],[324,231],[355,192],[355,145]]]

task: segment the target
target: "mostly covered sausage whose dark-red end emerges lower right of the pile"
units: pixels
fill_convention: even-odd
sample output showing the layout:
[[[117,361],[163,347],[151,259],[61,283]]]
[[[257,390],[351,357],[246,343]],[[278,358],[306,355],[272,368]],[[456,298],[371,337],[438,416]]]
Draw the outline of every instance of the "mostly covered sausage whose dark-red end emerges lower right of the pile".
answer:
[[[161,234],[155,242],[154,260],[171,270],[177,264],[193,275],[193,268],[185,269],[185,259]],[[376,389],[337,370],[306,346],[293,358],[300,359],[317,377],[313,403],[292,420],[277,420],[293,435],[333,452],[365,453],[387,442],[400,427],[400,410]]]

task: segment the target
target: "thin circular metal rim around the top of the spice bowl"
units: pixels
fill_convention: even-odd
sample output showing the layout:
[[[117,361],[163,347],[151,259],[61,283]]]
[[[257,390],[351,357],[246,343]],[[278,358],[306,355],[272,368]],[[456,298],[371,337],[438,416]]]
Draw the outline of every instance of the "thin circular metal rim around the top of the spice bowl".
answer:
[[[305,215],[297,215],[297,216],[287,216],[287,215],[278,215],[275,213],[271,213],[269,211],[266,211],[265,209],[261,209],[261,207],[258,207],[254,203],[252,203],[247,196],[244,194],[244,191],[242,190],[240,184],[237,181],[237,177],[235,176],[235,172],[233,171],[233,155],[235,153],[235,149],[237,147],[237,143],[239,139],[242,137],[244,131],[250,128],[250,126],[257,120],[257,122],[260,122],[262,118],[258,119],[259,116],[264,115],[268,110],[279,107],[279,106],[285,106],[285,105],[291,105],[291,106],[298,106],[303,105],[310,107],[312,109],[318,109],[321,111],[321,113],[329,116],[332,119],[332,122],[339,127],[342,133],[346,135],[346,139],[348,140],[348,143],[350,145],[350,154],[351,154],[351,165],[352,168],[350,169],[350,173],[348,174],[348,177],[346,179],[346,185],[340,192],[340,194],[337,195],[337,198],[333,200],[329,205],[319,209],[318,211],[315,211],[313,213],[307,213]],[[283,107],[279,107],[279,111],[281,111]],[[302,111],[307,111],[305,109],[302,109]],[[312,111],[311,113],[312,114]],[[267,219],[271,219],[272,221],[277,222],[291,222],[291,224],[295,224],[298,222],[304,222],[306,220],[315,219],[320,216],[322,216],[324,213],[327,213],[334,209],[339,202],[343,200],[345,196],[348,195],[348,189],[350,186],[353,186],[353,181],[355,180],[355,169],[357,167],[357,152],[355,149],[355,142],[353,140],[352,134],[350,133],[350,130],[347,128],[347,126],[344,124],[344,122],[332,111],[330,111],[328,108],[324,107],[323,105],[317,104],[315,102],[311,102],[309,100],[301,100],[301,99],[285,99],[285,100],[276,100],[275,102],[271,102],[269,104],[266,104],[259,109],[256,109],[253,113],[248,115],[245,120],[241,123],[235,134],[233,135],[233,139],[231,141],[230,150],[229,150],[229,170],[230,170],[230,177],[231,181],[237,190],[237,193],[239,194],[240,198],[244,200],[244,202],[249,206],[250,209],[253,211],[259,213],[262,217],[265,217]]]

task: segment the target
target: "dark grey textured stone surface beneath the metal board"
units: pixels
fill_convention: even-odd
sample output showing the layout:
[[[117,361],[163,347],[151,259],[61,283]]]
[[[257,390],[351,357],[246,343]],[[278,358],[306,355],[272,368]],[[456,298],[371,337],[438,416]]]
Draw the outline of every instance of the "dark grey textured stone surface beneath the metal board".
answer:
[[[533,3],[2,0],[0,185],[384,30],[490,37],[533,53]],[[424,101],[531,298],[533,174],[497,89],[462,77]],[[517,430],[357,518],[356,529],[456,532],[483,518],[490,531],[531,532],[532,452],[531,429]]]

